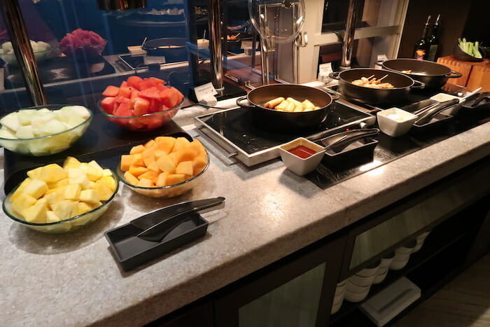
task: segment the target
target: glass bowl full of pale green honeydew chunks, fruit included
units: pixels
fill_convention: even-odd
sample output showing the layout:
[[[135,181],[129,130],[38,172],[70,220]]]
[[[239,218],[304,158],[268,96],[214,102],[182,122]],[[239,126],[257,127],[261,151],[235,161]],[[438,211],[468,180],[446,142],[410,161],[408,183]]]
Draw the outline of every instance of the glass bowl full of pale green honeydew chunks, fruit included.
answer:
[[[0,146],[22,155],[51,155],[69,148],[92,121],[84,106],[48,104],[0,118]]]

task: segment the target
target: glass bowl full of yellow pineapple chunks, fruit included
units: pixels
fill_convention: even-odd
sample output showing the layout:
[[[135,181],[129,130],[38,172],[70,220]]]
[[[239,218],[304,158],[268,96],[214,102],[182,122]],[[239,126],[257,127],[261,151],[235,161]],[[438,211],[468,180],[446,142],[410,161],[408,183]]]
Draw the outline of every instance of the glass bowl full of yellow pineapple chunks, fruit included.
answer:
[[[94,160],[68,157],[27,172],[27,178],[3,200],[13,221],[48,233],[73,232],[102,216],[118,193],[117,176]]]

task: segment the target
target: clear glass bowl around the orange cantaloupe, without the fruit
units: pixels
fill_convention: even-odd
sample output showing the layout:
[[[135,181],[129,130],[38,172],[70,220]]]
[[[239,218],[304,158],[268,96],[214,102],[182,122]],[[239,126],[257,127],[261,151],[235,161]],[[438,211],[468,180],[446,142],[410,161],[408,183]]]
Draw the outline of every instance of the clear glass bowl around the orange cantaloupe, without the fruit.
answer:
[[[162,187],[155,187],[155,188],[146,188],[146,187],[141,187],[141,186],[136,186],[129,181],[126,181],[124,178],[124,171],[120,168],[120,165],[118,165],[118,170],[116,171],[118,174],[118,177],[120,181],[125,183],[129,188],[134,190],[134,192],[139,193],[141,195],[146,195],[148,197],[176,197],[179,196],[183,193],[186,193],[188,190],[193,188],[198,181],[202,180],[202,175],[204,172],[207,171],[209,167],[209,153],[206,151],[207,155],[207,165],[202,169],[202,172],[199,174],[191,177],[187,181],[183,181],[182,183],[174,184],[174,185],[169,185],[169,186],[162,186]]]

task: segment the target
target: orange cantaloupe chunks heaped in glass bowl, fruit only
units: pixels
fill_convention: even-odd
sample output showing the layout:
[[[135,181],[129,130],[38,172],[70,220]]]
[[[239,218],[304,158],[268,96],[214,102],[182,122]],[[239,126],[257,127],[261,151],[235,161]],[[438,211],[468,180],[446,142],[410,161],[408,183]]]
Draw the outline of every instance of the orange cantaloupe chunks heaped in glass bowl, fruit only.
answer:
[[[207,152],[197,139],[157,137],[134,146],[122,155],[120,169],[124,179],[134,186],[154,188],[182,183],[207,166]]]

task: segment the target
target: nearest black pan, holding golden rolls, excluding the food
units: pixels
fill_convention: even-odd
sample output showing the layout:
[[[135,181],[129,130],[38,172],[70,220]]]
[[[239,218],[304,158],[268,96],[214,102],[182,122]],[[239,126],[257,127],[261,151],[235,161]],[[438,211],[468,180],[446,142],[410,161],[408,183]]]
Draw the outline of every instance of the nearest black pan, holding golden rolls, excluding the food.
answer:
[[[265,108],[264,104],[276,97],[293,97],[303,102],[305,99],[311,101],[320,109],[306,112],[285,112]],[[284,132],[320,127],[327,119],[332,97],[323,90],[296,84],[274,84],[264,85],[248,92],[245,97],[237,99],[238,106],[247,106],[243,102],[248,99],[249,106],[255,120],[259,120],[262,126],[266,125],[272,130]]]

